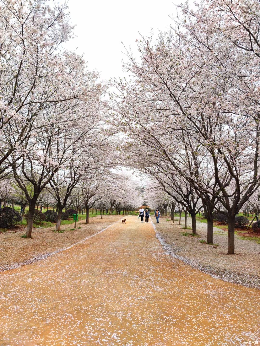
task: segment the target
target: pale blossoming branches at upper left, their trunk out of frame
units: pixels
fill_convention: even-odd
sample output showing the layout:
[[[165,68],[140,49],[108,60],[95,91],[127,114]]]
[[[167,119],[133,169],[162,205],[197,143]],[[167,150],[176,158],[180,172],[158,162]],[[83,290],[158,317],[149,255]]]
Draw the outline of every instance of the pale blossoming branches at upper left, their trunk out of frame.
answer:
[[[38,131],[35,119],[45,109],[83,94],[80,88],[66,91],[73,85],[73,69],[64,63],[72,67],[75,59],[60,54],[59,47],[71,30],[66,4],[0,2],[0,174],[10,167],[7,157],[22,156],[14,152]]]

